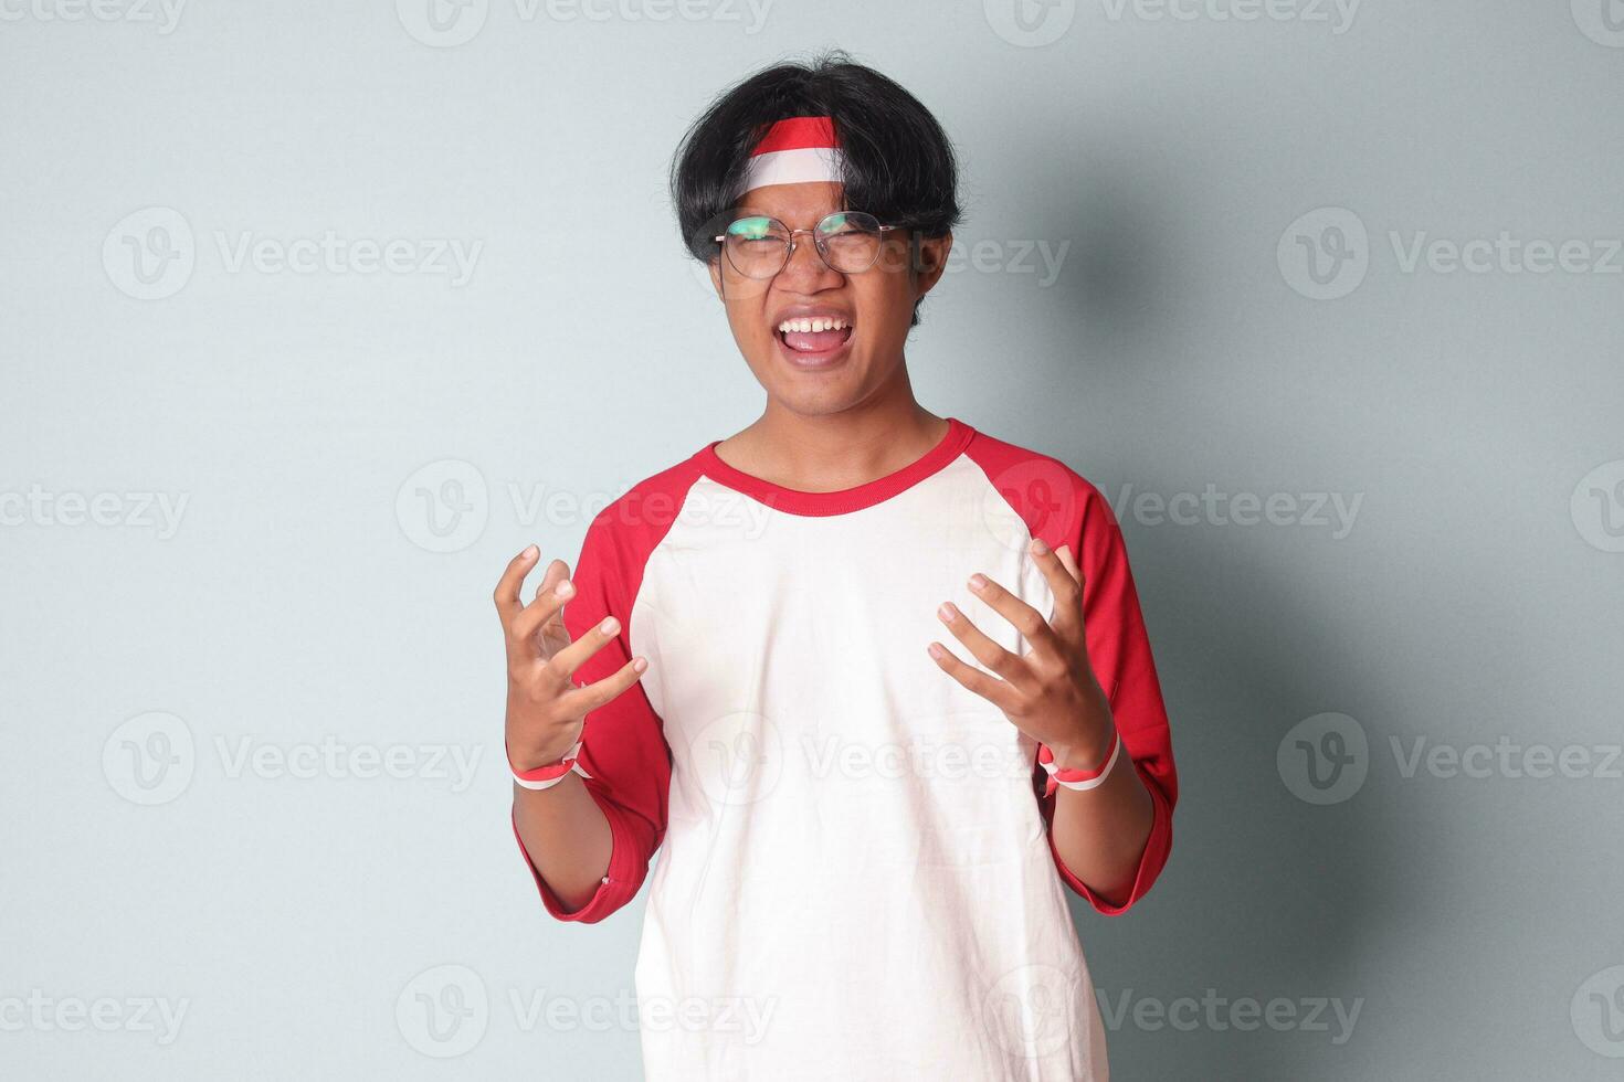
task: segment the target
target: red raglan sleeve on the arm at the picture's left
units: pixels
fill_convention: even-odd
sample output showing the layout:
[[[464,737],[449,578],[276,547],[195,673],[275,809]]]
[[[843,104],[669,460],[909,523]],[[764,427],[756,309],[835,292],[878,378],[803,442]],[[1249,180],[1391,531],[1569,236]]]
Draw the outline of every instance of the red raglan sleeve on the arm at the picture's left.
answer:
[[[570,638],[580,639],[607,615],[620,621],[620,633],[575,672],[580,683],[603,680],[632,660],[632,600],[664,529],[646,513],[633,516],[630,506],[622,500],[593,519],[572,573],[577,594],[564,607]],[[531,863],[516,821],[513,837],[547,912],[559,920],[596,923],[637,895],[666,834],[671,749],[641,681],[586,715],[580,764],[591,775],[581,784],[609,819],[612,839],[609,873],[596,894],[580,908],[567,908]]]

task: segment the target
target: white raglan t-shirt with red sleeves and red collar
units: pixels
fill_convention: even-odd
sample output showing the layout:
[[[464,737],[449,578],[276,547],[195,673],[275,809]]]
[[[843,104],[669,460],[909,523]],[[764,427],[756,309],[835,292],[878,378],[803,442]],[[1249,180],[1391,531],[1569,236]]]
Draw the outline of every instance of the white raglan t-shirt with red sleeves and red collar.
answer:
[[[1132,907],[1168,860],[1177,798],[1108,501],[958,419],[913,464],[843,492],[768,483],[715,446],[586,530],[564,620],[580,638],[614,615],[620,633],[577,680],[633,655],[648,668],[581,735],[583,784],[612,831],[596,894],[572,910],[531,865],[567,921],[609,917],[650,878],[635,972],[646,1077],[1106,1079],[1065,889],[1099,913]],[[1054,850],[1039,746],[926,652],[940,641],[976,663],[937,620],[944,600],[1026,650],[966,579],[981,571],[1047,616],[1033,537],[1078,558],[1116,769],[1138,772],[1155,809],[1119,904]]]

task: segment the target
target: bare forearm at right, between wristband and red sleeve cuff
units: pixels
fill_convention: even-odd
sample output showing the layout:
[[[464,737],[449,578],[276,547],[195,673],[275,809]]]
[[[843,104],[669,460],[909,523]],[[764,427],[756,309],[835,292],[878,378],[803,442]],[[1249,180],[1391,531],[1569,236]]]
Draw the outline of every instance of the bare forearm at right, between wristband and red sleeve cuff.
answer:
[[[1056,762],[1062,767],[1099,764],[1109,754],[1109,746],[1104,751],[1056,751]],[[1054,852],[1090,891],[1119,905],[1134,887],[1153,819],[1150,790],[1124,748],[1103,784],[1082,792],[1064,785],[1054,790]]]

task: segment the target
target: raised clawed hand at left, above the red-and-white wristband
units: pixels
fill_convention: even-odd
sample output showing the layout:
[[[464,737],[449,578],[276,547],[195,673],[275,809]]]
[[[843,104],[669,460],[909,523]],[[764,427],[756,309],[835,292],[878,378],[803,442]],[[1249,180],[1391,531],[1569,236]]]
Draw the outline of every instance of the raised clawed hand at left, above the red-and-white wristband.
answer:
[[[586,714],[635,685],[648,668],[645,659],[633,657],[614,675],[577,686],[575,670],[620,631],[620,621],[609,616],[572,642],[564,626],[564,605],[575,595],[570,565],[554,560],[534,600],[526,605],[520,597],[538,560],[541,550],[534,545],[513,556],[495,590],[508,655],[507,748],[518,771],[562,759],[580,740]]]

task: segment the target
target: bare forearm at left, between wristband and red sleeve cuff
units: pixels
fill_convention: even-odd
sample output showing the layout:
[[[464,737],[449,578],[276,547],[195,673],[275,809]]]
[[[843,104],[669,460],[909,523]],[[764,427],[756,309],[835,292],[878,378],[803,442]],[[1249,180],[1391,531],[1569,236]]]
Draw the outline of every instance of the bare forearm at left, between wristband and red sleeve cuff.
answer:
[[[606,874],[612,848],[609,819],[575,772],[551,788],[513,785],[513,826],[536,873],[559,900],[580,908]]]

